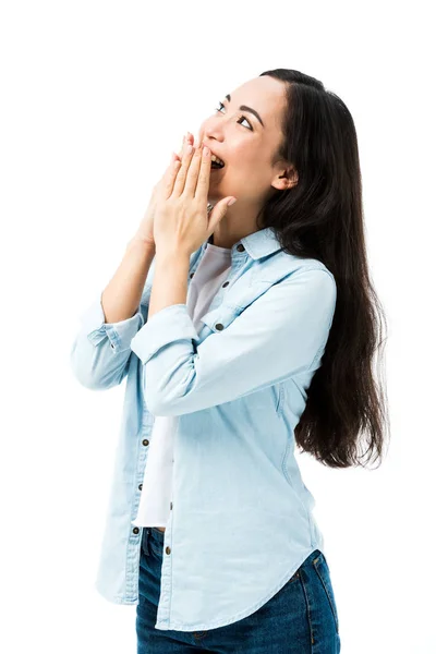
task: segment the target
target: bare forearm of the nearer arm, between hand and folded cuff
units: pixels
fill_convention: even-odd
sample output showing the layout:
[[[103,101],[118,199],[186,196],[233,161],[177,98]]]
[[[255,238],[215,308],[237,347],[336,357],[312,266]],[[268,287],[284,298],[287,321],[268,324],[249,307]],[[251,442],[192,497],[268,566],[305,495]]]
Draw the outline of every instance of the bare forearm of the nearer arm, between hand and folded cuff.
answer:
[[[185,304],[190,256],[182,252],[157,252],[148,319],[161,308]]]

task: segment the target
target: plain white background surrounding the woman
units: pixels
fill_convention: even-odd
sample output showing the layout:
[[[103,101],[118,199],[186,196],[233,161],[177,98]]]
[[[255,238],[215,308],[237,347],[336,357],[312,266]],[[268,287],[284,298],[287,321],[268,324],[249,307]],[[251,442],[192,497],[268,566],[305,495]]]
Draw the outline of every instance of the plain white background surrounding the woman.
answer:
[[[136,651],[135,608],[94,589],[124,384],[81,387],[70,349],[183,133],[271,68],[322,80],[353,116],[370,267],[389,324],[386,461],[331,470],[299,456],[341,652],[436,652],[429,7],[2,3],[3,652]]]

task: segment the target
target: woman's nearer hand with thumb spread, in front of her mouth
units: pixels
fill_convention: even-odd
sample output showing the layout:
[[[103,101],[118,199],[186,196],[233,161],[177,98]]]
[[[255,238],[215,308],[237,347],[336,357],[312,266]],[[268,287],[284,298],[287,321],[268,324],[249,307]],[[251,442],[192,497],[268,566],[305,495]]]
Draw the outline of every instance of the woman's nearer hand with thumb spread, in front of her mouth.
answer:
[[[225,197],[207,215],[210,150],[187,149],[185,146],[181,162],[170,164],[160,186],[154,221],[156,253],[165,250],[191,255],[214,233],[232,199]]]

